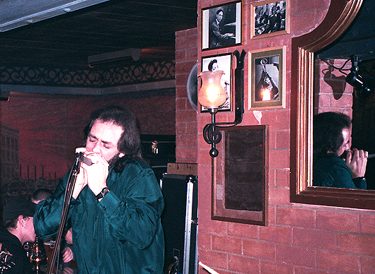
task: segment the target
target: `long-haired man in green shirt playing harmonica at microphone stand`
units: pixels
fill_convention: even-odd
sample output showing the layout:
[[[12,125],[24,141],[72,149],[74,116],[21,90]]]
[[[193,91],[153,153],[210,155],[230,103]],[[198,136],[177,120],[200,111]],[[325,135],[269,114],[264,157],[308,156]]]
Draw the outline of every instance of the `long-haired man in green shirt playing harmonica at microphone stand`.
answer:
[[[91,114],[84,132],[86,147],[76,151],[91,161],[81,162],[68,213],[79,273],[161,274],[163,197],[140,155],[134,114],[105,107]],[[38,236],[56,234],[66,186],[67,176],[37,204]]]

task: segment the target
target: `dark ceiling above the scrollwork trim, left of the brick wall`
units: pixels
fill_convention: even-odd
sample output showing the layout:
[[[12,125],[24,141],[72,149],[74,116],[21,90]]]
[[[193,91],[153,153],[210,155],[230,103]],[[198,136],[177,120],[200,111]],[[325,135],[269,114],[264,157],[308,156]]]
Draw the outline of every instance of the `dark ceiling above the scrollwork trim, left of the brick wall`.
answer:
[[[0,66],[84,68],[88,56],[129,48],[174,59],[175,32],[196,27],[197,0],[105,1],[0,32]]]

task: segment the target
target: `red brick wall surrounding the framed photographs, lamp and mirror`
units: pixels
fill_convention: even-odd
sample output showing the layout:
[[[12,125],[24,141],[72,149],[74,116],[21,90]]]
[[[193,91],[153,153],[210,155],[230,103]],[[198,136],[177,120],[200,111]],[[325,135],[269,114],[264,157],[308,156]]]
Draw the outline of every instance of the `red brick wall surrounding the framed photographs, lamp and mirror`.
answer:
[[[210,120],[209,114],[197,114],[197,163],[199,181],[198,251],[202,263],[220,274],[242,273],[374,273],[375,272],[375,213],[372,210],[355,210],[289,202],[289,117],[291,40],[303,35],[321,23],[330,4],[329,0],[291,0],[290,33],[250,40],[250,3],[243,4],[243,43],[241,46],[201,51],[201,18],[197,28],[198,64],[202,56],[233,52],[246,52],[272,47],[286,47],[286,104],[279,109],[248,109],[248,56],[245,59],[245,109],[243,125],[267,124],[270,126],[269,213],[267,227],[235,222],[211,220],[211,157],[209,145],[202,138],[202,129]],[[199,0],[202,8],[226,4],[224,0]],[[190,32],[178,32],[176,52],[191,43]],[[181,35],[185,42],[181,43]],[[182,52],[181,52],[182,54]],[[180,55],[180,57],[183,56]],[[187,59],[190,60],[190,59]],[[188,61],[187,61],[188,62]],[[179,59],[180,66],[183,60]],[[186,71],[190,66],[186,68]],[[200,71],[200,67],[198,68]],[[178,88],[186,75],[176,73]],[[336,75],[338,76],[338,75]],[[181,78],[180,78],[181,77]],[[323,92],[323,88],[321,88]],[[332,93],[332,90],[331,90]],[[345,92],[346,96],[346,92]],[[177,92],[176,130],[182,140],[185,115],[189,112],[183,90]],[[179,101],[182,101],[179,103]],[[333,107],[330,105],[329,107]],[[186,110],[185,110],[186,109]],[[195,115],[195,112],[193,113]],[[233,112],[220,113],[217,121],[232,121]],[[188,134],[184,138],[188,138]],[[185,160],[185,141],[178,142],[178,160]],[[207,273],[200,268],[200,273]]]

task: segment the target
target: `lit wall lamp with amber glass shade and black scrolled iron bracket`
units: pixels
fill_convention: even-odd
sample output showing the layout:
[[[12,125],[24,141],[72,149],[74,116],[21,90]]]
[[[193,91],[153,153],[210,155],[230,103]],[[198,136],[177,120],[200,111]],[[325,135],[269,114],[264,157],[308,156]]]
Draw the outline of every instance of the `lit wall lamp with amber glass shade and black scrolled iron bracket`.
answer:
[[[234,70],[234,121],[217,123],[215,115],[221,105],[226,101],[226,93],[221,86],[220,79],[224,71],[202,71],[200,78],[202,79],[202,86],[198,91],[198,101],[200,105],[206,107],[211,114],[211,123],[203,128],[203,138],[206,143],[211,145],[209,155],[217,157],[219,150],[216,145],[221,141],[221,132],[216,129],[216,126],[236,126],[242,121],[243,115],[243,59],[246,52],[242,50],[241,54],[236,50],[233,52],[236,56],[237,66]]]

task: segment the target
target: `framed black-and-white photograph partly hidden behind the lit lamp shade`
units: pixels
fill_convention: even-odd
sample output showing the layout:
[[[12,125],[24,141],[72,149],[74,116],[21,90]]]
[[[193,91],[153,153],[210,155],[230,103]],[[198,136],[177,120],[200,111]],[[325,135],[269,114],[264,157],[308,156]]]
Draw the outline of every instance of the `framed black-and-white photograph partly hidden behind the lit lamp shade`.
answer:
[[[221,76],[221,86],[226,92],[226,101],[219,107],[219,111],[230,111],[232,105],[232,54],[202,57],[202,71],[224,71]],[[201,112],[204,111],[207,111],[207,108],[201,106]]]

